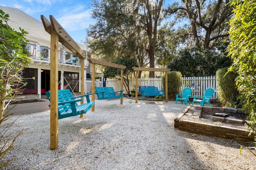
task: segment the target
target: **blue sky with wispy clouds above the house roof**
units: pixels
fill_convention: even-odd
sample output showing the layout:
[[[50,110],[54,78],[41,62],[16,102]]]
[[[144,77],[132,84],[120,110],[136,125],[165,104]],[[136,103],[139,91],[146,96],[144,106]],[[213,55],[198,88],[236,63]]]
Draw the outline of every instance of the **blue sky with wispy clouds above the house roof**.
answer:
[[[174,0],[165,0],[165,5]],[[86,29],[96,21],[91,18],[91,0],[0,0],[0,6],[18,8],[41,21],[52,15],[78,43],[86,40]]]

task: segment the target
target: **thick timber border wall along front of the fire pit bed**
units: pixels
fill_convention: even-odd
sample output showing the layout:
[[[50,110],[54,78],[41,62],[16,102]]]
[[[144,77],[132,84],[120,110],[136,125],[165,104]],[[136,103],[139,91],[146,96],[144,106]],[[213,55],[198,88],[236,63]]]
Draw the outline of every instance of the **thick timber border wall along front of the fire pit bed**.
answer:
[[[180,118],[188,111],[184,110],[176,119],[174,119],[174,128],[189,133],[206,135],[211,137],[222,137],[227,139],[242,139],[242,141],[254,141],[252,134],[248,136],[248,132],[244,129],[212,125],[210,123],[200,123],[189,120],[180,120]]]

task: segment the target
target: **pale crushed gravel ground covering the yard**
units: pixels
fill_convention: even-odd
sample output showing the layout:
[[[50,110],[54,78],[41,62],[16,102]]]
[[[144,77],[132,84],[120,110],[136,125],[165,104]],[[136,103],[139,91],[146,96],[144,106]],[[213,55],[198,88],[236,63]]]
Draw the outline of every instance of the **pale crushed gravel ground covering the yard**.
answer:
[[[84,118],[60,119],[50,150],[50,111],[12,116],[23,131],[4,160],[6,170],[253,170],[255,156],[238,141],[174,129],[187,107],[175,101],[96,100]]]

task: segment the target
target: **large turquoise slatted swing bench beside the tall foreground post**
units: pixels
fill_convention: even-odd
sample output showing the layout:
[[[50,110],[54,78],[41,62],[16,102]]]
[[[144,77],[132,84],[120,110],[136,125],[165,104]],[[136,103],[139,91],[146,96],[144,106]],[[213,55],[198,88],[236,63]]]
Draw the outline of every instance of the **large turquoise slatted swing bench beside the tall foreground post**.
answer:
[[[50,100],[50,91],[45,94]],[[95,103],[94,101],[90,102],[90,95],[92,93],[74,97],[69,89],[58,90],[58,119],[85,114]],[[87,103],[78,105],[77,102],[82,101],[78,98],[82,97],[86,97]]]

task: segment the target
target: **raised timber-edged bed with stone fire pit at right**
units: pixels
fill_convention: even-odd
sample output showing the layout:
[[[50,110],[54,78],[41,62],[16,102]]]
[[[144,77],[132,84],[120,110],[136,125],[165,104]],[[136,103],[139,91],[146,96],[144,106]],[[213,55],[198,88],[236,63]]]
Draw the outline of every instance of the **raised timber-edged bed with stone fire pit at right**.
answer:
[[[210,120],[206,120],[205,113],[215,114],[215,113],[225,113],[230,116],[237,117],[238,115],[242,115],[244,117],[244,113],[241,110],[237,110],[234,108],[228,107],[227,109],[222,107],[193,107],[188,106],[176,119],[174,119],[174,127],[189,133],[195,133],[200,135],[212,136],[212,137],[222,137],[227,139],[241,139],[242,141],[254,141],[254,136],[256,134],[252,134],[248,136],[247,126],[242,124],[230,124],[226,122],[218,122],[213,123]],[[196,109],[200,112],[197,112],[198,115],[193,115],[186,118],[186,115],[191,113],[191,110]],[[210,119],[210,117],[209,117]]]

